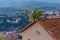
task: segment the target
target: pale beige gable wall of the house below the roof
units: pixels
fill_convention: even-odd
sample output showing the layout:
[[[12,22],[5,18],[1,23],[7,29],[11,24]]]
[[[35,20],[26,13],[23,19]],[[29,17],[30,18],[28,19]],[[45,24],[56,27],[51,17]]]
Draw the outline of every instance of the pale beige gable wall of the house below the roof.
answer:
[[[39,24],[35,23],[21,33],[22,40],[53,40],[46,30]]]

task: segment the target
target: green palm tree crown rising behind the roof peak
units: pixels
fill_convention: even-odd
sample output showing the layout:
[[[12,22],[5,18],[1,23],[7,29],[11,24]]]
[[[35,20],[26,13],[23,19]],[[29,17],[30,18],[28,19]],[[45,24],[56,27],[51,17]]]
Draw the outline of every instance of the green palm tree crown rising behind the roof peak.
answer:
[[[31,21],[33,20],[37,20],[39,19],[43,14],[44,11],[38,11],[37,9],[35,9],[34,11],[32,11],[28,17],[30,18]]]

